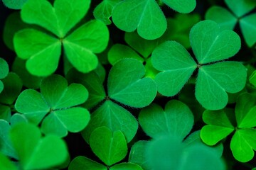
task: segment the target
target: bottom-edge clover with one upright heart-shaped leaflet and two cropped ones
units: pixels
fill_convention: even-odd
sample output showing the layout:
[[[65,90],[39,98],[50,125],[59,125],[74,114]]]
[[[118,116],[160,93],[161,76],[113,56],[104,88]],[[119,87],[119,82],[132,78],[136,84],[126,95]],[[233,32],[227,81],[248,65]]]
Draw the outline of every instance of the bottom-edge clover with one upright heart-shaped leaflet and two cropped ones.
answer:
[[[107,166],[99,164],[87,157],[75,157],[70,162],[69,170],[75,169],[95,169],[95,170],[107,170],[107,169],[135,169],[142,170],[137,164],[133,163],[120,163],[117,162],[124,159],[127,155],[127,141],[124,134],[120,131],[112,132],[109,128],[102,126],[96,128],[90,135],[90,147],[97,157]],[[114,165],[113,165],[114,164]]]

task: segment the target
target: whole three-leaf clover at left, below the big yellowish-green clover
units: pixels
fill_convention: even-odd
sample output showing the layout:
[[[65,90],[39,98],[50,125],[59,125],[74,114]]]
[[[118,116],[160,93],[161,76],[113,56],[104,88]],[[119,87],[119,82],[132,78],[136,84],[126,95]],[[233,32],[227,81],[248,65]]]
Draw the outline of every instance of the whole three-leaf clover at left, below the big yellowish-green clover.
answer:
[[[89,122],[87,109],[75,107],[84,103],[87,96],[87,89],[81,84],[68,86],[63,77],[52,75],[43,79],[41,93],[32,89],[23,91],[15,108],[36,125],[42,121],[43,133],[64,137],[68,131],[79,132]]]

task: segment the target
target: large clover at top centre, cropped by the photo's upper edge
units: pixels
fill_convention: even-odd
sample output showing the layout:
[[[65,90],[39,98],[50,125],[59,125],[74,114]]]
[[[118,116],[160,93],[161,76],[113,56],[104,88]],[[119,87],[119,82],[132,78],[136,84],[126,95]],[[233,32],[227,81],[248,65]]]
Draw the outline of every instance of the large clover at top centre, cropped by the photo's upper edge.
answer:
[[[190,13],[196,7],[195,0],[162,2],[180,13]],[[167,28],[164,13],[155,0],[120,1],[113,9],[112,20],[117,28],[126,32],[137,29],[138,34],[146,40],[159,38]]]

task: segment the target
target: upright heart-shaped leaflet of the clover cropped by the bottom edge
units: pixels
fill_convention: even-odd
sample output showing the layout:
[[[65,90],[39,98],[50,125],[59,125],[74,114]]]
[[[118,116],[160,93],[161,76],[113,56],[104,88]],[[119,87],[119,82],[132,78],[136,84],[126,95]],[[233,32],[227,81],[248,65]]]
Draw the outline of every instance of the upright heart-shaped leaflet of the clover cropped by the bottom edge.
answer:
[[[107,166],[121,161],[127,155],[127,142],[123,133],[112,132],[106,127],[93,130],[90,135],[90,147]]]

